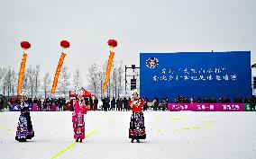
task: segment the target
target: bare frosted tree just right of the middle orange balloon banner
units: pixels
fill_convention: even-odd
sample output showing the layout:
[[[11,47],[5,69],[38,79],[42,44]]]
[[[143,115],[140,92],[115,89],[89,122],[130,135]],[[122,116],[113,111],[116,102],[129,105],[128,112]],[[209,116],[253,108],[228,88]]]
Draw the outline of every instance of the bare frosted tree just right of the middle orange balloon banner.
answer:
[[[59,85],[58,89],[61,93],[64,93],[65,96],[69,92],[69,85],[70,85],[70,74],[68,72],[68,67],[64,66],[61,69],[61,73],[59,76]]]

